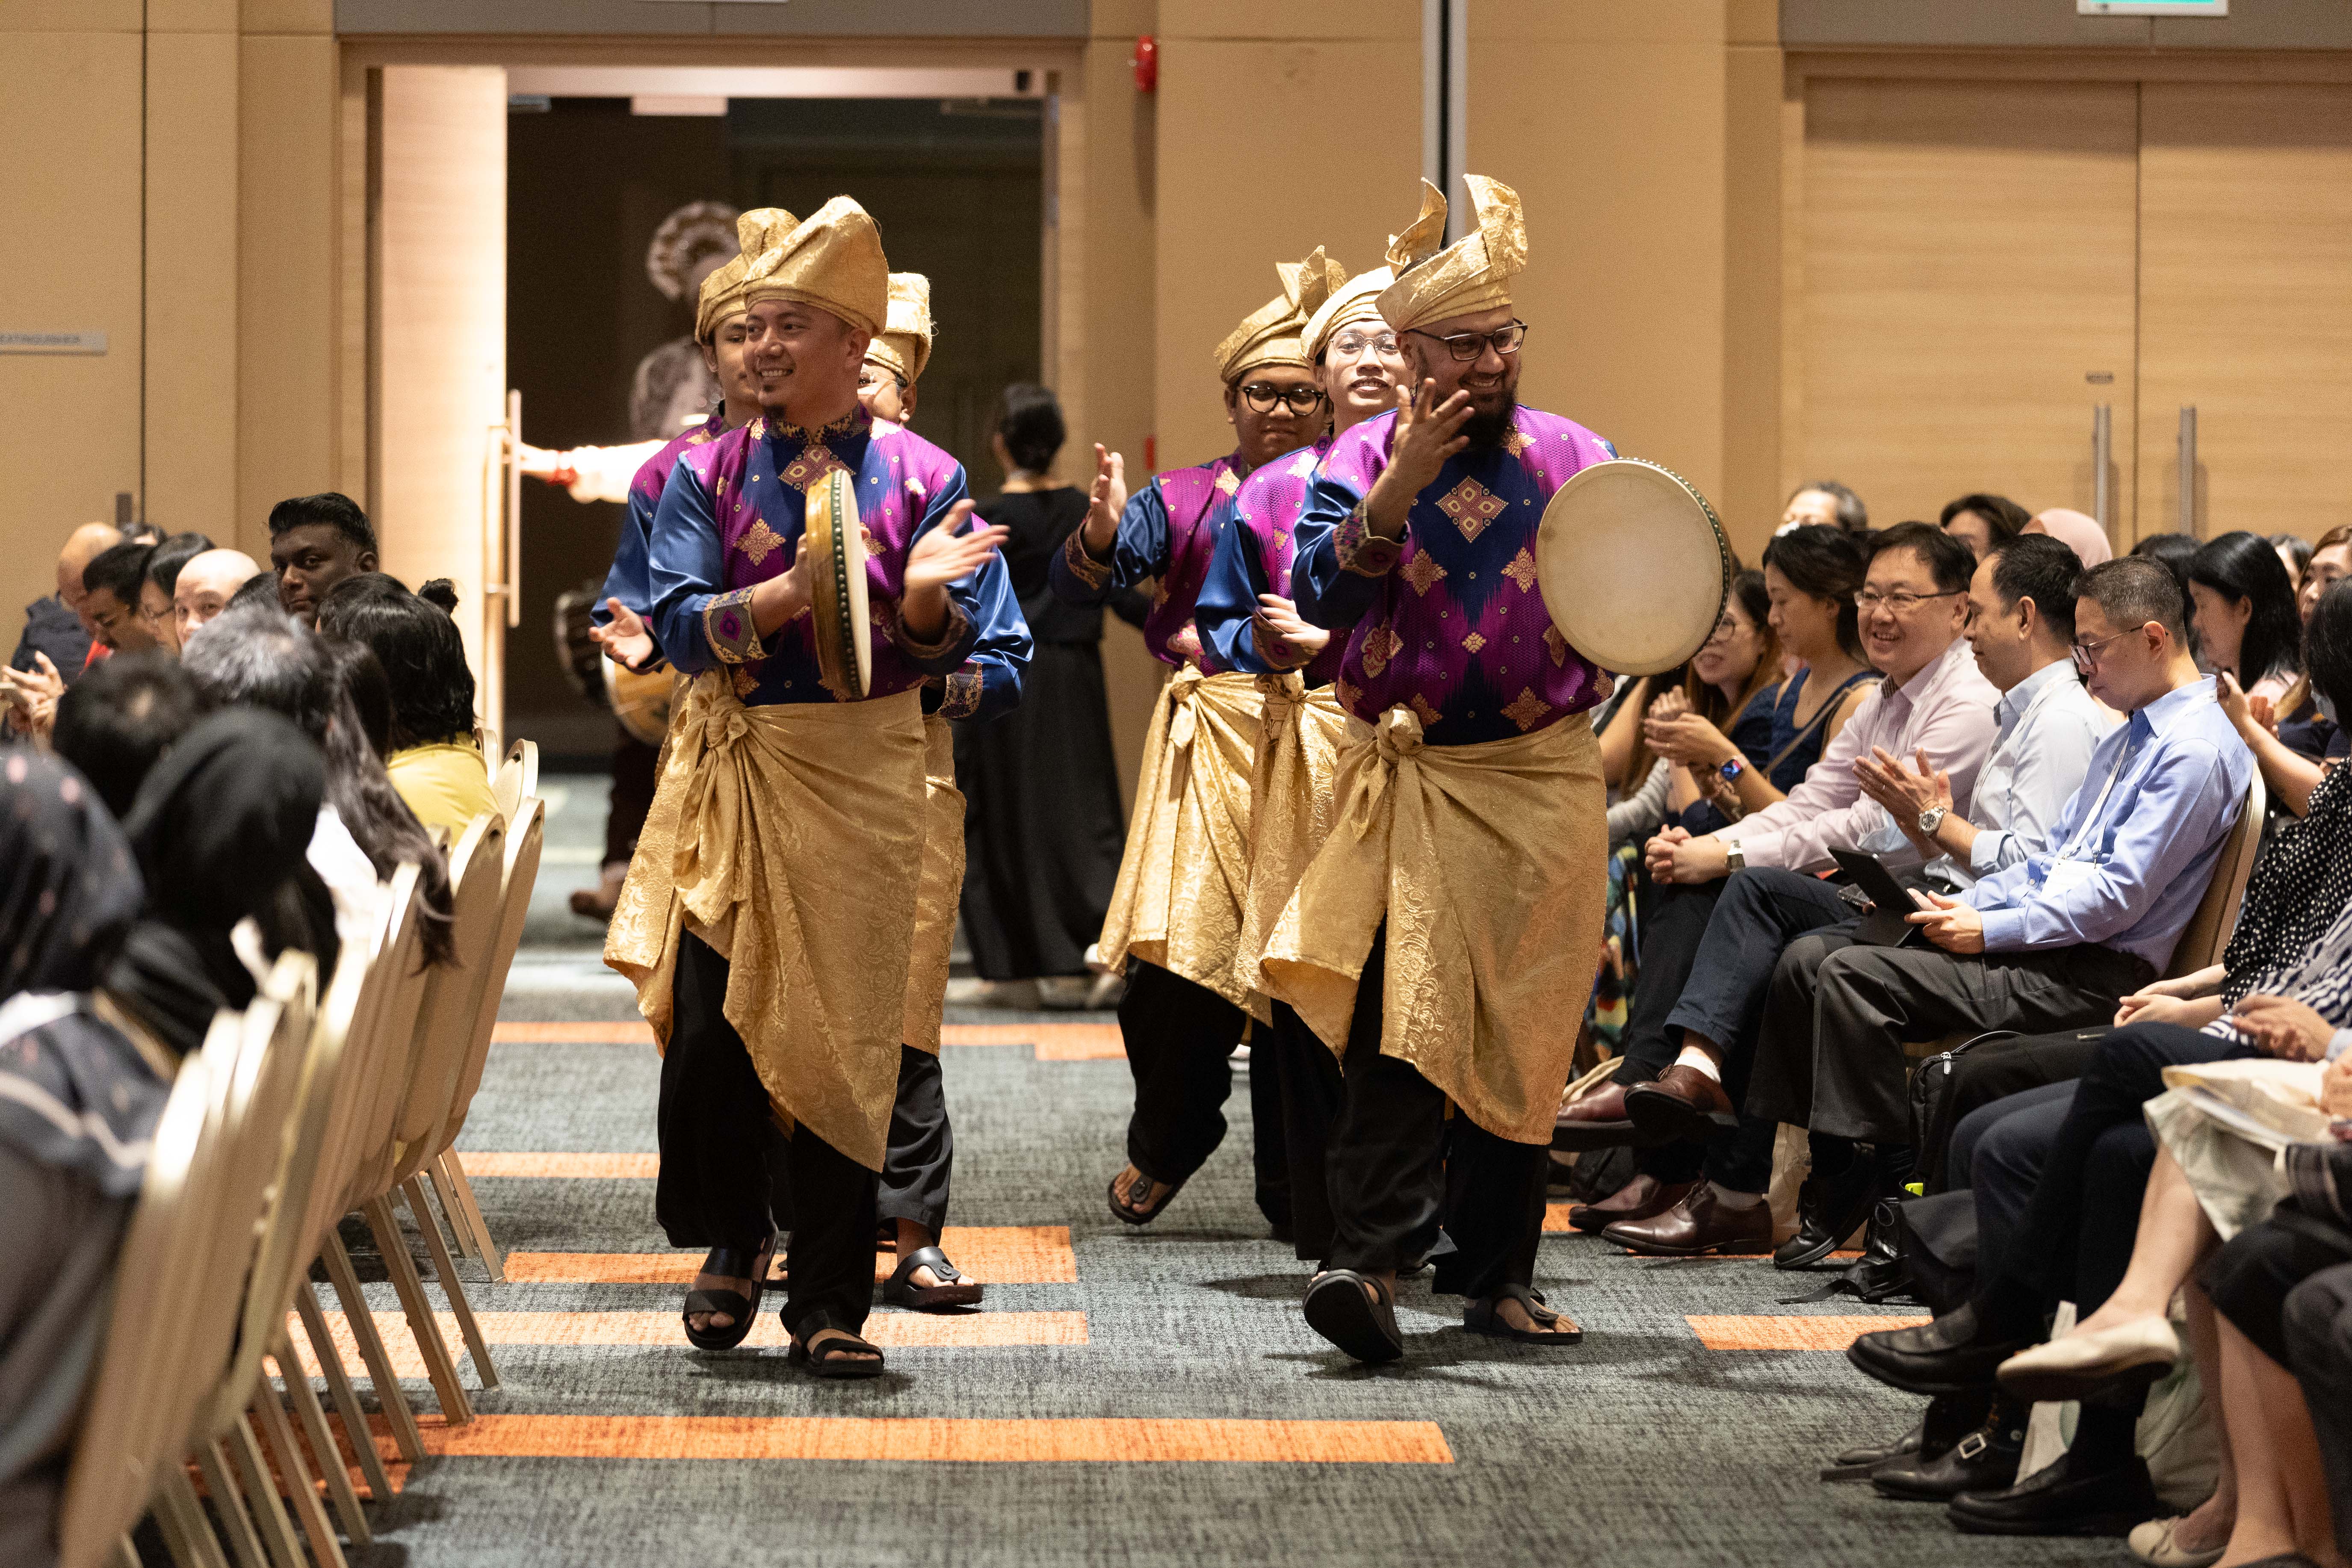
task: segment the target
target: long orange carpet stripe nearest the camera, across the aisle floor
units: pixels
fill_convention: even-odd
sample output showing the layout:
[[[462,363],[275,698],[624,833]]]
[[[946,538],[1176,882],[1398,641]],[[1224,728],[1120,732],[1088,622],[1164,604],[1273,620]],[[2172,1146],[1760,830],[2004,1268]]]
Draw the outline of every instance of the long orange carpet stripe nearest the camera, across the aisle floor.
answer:
[[[1425,1420],[953,1420],[477,1415],[423,1427],[454,1458],[938,1460],[964,1465],[1451,1465]]]

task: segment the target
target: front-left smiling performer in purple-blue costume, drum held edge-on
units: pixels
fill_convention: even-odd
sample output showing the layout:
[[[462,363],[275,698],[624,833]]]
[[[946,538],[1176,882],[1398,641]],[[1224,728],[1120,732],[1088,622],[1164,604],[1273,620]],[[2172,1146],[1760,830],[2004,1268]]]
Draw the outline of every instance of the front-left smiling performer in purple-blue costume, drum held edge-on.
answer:
[[[898,1091],[924,844],[915,696],[978,642],[974,571],[1000,531],[955,458],[858,407],[889,315],[882,237],[833,197],[743,270],[762,414],[689,449],[654,512],[654,637],[694,677],[604,959],[663,1046],[656,1215],[708,1246],[687,1338],[729,1347],[774,1253],[769,1128],[790,1171],[793,1359],[870,1378],[875,1190]],[[802,550],[807,491],[854,480],[873,682],[826,682]]]

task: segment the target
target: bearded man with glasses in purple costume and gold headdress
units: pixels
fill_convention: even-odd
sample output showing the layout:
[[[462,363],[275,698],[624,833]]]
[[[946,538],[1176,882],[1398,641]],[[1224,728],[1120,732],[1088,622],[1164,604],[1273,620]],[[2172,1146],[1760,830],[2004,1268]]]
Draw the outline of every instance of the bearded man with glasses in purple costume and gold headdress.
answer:
[[[1606,820],[1585,710],[1609,679],[1552,628],[1536,529],[1602,437],[1517,402],[1519,197],[1468,176],[1390,242],[1381,315],[1418,390],[1331,444],[1291,588],[1345,630],[1350,724],[1334,825],[1265,945],[1261,983],[1341,1056],[1331,1248],[1305,1316],[1359,1361],[1404,1354],[1397,1267],[1435,1241],[1477,1333],[1569,1345],[1529,1288],[1545,1150],[1602,940]],[[1449,1117],[1451,1110],[1451,1117]]]

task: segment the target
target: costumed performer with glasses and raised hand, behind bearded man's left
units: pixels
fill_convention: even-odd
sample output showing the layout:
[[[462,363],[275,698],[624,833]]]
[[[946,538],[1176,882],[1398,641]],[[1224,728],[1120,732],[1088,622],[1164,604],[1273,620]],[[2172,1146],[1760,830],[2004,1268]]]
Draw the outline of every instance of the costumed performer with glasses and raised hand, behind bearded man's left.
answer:
[[[1127,498],[1127,465],[1101,447],[1087,522],[1051,564],[1054,592],[1098,604],[1115,588],[1157,578],[1143,644],[1174,675],[1160,691],[1136,776],[1136,811],[1110,893],[1096,959],[1127,971],[1120,1034],[1136,1079],[1127,1168],[1110,1180],[1110,1213],[1150,1225],[1225,1138],[1228,1058],[1249,1023],[1251,985],[1232,971],[1249,886],[1249,776],[1261,701],[1251,675],[1225,670],[1200,639],[1192,602],[1209,574],[1232,498],[1251,470],[1322,435],[1324,395],[1301,331],[1334,277],[1317,249],[1282,263],[1282,294],[1216,346],[1225,418],[1237,444],[1197,468],[1157,475]],[[1256,1079],[1258,1208],[1289,1229],[1279,1119]]]

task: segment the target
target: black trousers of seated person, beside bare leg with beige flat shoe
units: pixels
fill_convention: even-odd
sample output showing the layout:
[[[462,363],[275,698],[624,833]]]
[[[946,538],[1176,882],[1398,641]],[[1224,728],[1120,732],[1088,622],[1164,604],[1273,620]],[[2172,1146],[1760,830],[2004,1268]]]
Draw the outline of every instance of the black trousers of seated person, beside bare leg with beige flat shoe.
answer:
[[[2169,1023],[2136,1023],[2098,1046],[2051,1133],[2042,1180],[1999,1267],[1983,1272],[1978,1319],[1994,1333],[2034,1335],[2060,1300],[2098,1312],[2131,1267],[2157,1140],[2140,1107],[2164,1093],[2164,1070],[2251,1056],[2249,1046]],[[1983,1150],[1978,1150],[1983,1164]]]

